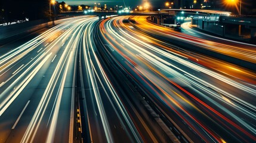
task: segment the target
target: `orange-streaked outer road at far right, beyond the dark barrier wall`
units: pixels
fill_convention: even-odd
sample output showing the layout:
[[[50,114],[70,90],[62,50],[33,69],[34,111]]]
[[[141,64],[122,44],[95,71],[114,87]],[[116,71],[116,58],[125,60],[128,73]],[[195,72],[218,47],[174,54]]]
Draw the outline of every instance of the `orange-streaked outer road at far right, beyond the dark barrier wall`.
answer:
[[[183,41],[183,43],[190,43],[191,45],[199,46],[200,48],[207,49],[209,51],[214,51],[220,54],[229,55],[230,57],[235,57],[240,60],[249,61],[250,63],[256,63],[255,59],[255,45],[231,42],[226,39],[215,38],[210,40],[205,38],[205,35],[199,36],[198,32],[174,32],[171,29],[162,26],[156,26],[156,24],[149,23],[146,17],[134,17],[138,26],[141,29],[146,30],[146,32],[156,34],[158,36],[167,37],[169,39],[175,39],[178,41]],[[185,28],[184,28],[185,29]],[[187,30],[188,31],[188,30]],[[215,41],[217,39],[217,41]]]

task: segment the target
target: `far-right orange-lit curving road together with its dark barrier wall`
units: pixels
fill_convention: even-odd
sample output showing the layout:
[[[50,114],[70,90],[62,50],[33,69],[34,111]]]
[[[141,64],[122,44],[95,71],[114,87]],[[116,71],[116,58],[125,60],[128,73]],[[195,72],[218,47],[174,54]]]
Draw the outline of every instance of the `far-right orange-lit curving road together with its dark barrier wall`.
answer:
[[[168,27],[150,23],[146,18],[131,17],[131,24],[135,20],[135,23],[132,25],[141,31],[166,42],[175,42],[175,45],[181,48],[216,57],[247,69],[256,70],[255,45],[221,38],[214,38],[213,40],[212,37],[199,35],[198,32],[192,32],[191,30],[189,33],[176,32]]]

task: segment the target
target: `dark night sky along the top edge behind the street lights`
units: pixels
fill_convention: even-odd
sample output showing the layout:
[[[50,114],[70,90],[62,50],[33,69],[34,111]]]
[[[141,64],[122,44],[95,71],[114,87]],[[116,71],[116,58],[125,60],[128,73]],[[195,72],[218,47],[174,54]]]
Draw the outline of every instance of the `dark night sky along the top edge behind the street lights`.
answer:
[[[10,19],[24,19],[29,17],[30,20],[39,18],[45,18],[45,12],[49,8],[50,0],[0,0],[1,17],[4,15],[5,18]],[[124,5],[124,2],[129,7],[136,7],[141,5],[147,0],[56,0],[58,2],[64,1],[69,5],[94,5],[94,2],[101,3],[102,5],[107,4],[107,7],[113,5]],[[149,0],[148,2],[153,5],[153,8],[164,7],[166,1],[177,1],[177,0]],[[185,1],[185,0],[183,0]],[[191,0],[193,1],[193,0]],[[198,0],[198,2],[203,0]],[[225,1],[225,0],[209,0],[209,1]],[[242,13],[249,15],[256,15],[256,0],[242,0]],[[218,8],[219,10],[230,10],[236,13],[234,8]],[[4,12],[2,11],[4,10]],[[4,14],[3,14],[4,13]]]

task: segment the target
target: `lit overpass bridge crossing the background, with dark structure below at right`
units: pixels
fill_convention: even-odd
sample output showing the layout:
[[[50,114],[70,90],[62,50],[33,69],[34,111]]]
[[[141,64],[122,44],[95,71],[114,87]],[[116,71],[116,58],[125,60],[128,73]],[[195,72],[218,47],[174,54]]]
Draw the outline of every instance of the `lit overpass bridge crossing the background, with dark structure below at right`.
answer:
[[[99,20],[107,15],[143,15],[158,24],[182,23],[180,17],[192,17],[192,24],[199,29],[239,40],[256,41],[256,16],[232,15],[227,11],[163,9],[159,11],[70,11],[62,15],[97,15]],[[169,21],[168,21],[169,20]]]

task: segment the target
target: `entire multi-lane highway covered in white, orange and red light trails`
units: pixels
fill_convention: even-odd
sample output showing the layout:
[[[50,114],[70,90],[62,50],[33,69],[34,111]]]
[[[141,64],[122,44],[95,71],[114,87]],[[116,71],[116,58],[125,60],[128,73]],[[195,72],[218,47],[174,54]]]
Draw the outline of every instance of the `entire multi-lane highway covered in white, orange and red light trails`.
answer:
[[[178,43],[255,45],[183,29],[87,15],[1,46],[0,142],[255,142],[255,72]]]

